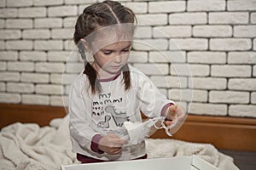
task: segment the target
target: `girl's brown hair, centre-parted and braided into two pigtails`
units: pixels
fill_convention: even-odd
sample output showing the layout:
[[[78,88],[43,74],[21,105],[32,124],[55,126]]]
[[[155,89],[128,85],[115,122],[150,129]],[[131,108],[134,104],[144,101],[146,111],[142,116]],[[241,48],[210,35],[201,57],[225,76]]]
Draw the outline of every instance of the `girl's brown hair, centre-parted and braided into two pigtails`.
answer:
[[[81,54],[84,60],[84,74],[89,78],[90,88],[92,94],[101,91],[101,85],[97,79],[97,71],[87,61],[85,56],[85,48],[80,40],[87,37],[93,31],[96,31],[99,27],[113,26],[116,24],[123,23],[135,23],[137,22],[135,14],[130,8],[126,8],[119,2],[114,1],[103,1],[102,3],[94,3],[87,8],[84,8],[82,14],[75,25],[75,32],[73,34],[73,41],[79,48],[79,54]],[[134,30],[133,30],[134,31]],[[133,34],[134,32],[132,32]],[[131,87],[131,77],[128,65],[123,67],[125,83],[125,90]]]

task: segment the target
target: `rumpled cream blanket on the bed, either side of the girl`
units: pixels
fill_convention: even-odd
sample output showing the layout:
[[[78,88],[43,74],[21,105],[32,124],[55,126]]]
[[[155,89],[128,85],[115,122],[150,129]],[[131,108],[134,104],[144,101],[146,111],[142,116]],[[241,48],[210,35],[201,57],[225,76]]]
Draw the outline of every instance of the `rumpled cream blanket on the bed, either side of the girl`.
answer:
[[[68,120],[54,119],[47,127],[14,123],[0,133],[0,169],[59,170],[61,164],[79,163],[71,151]],[[237,170],[230,156],[212,144],[194,144],[175,139],[146,139],[148,158],[201,156],[219,169]]]

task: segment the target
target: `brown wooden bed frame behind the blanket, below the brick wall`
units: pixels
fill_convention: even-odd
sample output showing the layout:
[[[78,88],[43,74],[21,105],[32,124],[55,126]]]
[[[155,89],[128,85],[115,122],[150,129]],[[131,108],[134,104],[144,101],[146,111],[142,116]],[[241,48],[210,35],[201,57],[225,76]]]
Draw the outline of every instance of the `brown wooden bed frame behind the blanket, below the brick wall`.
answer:
[[[0,128],[14,122],[49,125],[50,120],[66,116],[64,107],[0,104]],[[151,138],[170,138],[163,130]],[[196,143],[210,143],[222,150],[256,151],[256,119],[229,116],[189,115],[172,137]]]

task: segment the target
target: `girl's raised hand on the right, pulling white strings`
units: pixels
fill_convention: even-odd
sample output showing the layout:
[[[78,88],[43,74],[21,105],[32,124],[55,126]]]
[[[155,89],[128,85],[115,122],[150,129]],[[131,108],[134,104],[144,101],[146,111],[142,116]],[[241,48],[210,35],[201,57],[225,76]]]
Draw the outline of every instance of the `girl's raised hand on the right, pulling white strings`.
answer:
[[[179,127],[182,126],[183,122],[186,119],[186,112],[180,105],[171,105],[166,110],[166,118],[170,121],[166,121],[166,126],[169,127],[172,124],[175,125],[173,128],[175,128],[175,132]],[[172,131],[172,132],[171,132]],[[170,132],[173,133],[173,129],[170,129]],[[175,133],[174,132],[174,133]]]

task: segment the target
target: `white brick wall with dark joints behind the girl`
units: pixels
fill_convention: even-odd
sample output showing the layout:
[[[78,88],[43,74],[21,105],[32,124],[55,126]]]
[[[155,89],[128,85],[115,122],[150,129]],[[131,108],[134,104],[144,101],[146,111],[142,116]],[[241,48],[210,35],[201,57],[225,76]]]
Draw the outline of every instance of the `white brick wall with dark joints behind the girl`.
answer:
[[[0,0],[0,102],[63,105],[65,92],[67,103],[83,69],[70,56],[74,25],[96,2]],[[139,25],[129,61],[163,94],[192,114],[256,118],[255,0],[120,2]]]

